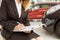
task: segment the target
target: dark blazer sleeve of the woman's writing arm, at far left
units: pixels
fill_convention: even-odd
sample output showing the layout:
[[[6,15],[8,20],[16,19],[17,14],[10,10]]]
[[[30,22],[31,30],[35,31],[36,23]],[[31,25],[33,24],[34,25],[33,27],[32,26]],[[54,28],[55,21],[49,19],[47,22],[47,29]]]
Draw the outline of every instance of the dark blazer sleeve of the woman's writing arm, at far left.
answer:
[[[7,16],[8,9],[5,0],[2,0],[0,7],[0,25],[4,30],[8,30],[13,33],[13,29],[18,25],[17,21],[9,19]]]

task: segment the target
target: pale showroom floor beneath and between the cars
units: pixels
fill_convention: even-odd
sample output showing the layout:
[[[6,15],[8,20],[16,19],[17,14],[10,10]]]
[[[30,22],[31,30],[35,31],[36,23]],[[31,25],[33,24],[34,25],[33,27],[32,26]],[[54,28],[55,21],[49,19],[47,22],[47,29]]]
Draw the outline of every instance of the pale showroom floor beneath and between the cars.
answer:
[[[31,23],[31,25],[41,24],[41,22],[30,22],[30,23]],[[40,35],[41,40],[60,40],[53,33],[47,33],[42,27],[34,30],[34,32]],[[1,35],[0,35],[0,40],[2,40]]]

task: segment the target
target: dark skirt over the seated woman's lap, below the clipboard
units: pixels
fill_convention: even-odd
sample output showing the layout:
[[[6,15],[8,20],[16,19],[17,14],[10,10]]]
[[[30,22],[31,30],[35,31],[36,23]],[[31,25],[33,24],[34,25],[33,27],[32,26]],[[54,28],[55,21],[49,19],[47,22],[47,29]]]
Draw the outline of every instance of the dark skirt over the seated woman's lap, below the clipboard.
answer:
[[[37,35],[36,33],[32,32],[30,34],[24,34],[24,33],[17,33],[17,34],[13,34],[9,39],[7,40],[31,40],[33,38],[37,38],[39,37],[39,35]]]

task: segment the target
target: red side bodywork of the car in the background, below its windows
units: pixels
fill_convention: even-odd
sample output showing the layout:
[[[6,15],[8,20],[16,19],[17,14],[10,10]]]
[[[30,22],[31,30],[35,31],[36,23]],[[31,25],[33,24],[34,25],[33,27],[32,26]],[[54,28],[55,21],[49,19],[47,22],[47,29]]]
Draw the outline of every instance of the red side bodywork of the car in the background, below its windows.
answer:
[[[29,11],[29,19],[42,19],[44,16],[44,12],[47,11],[48,8],[40,8],[37,10]]]

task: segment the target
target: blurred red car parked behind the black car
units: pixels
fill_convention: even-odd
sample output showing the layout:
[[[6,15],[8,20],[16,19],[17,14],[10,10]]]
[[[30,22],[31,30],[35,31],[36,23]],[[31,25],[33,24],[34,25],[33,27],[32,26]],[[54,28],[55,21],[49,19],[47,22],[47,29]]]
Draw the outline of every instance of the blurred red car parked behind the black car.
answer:
[[[60,3],[57,2],[50,2],[50,3],[38,3],[33,5],[34,7],[39,6],[39,9],[35,9],[35,10],[29,10],[29,19],[33,20],[33,19],[42,19],[44,16],[44,13],[51,7],[54,5],[57,5]]]

